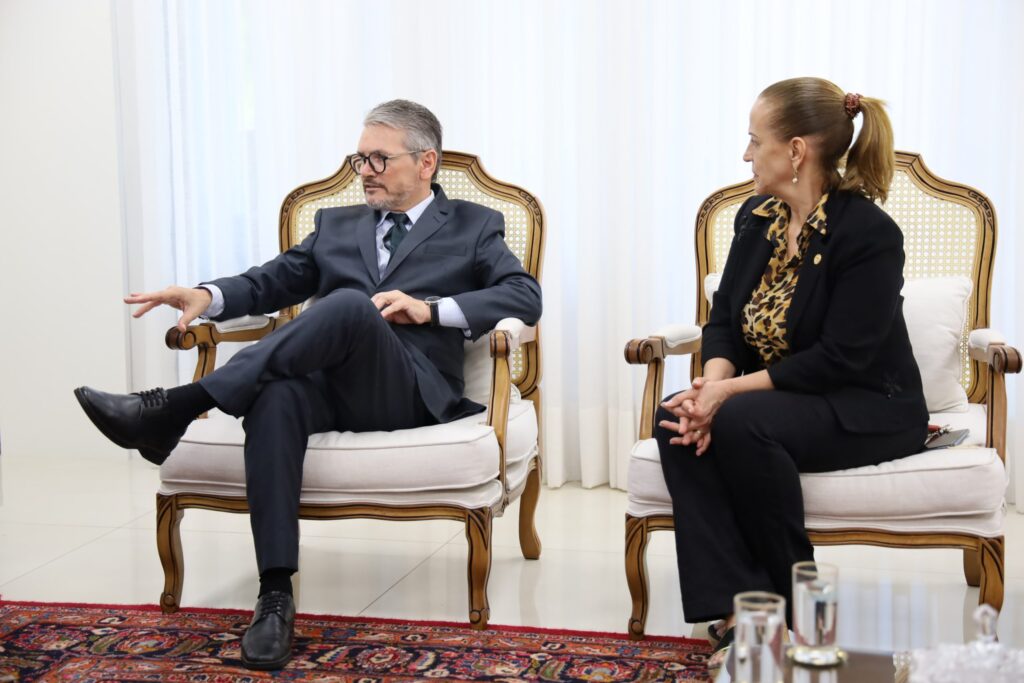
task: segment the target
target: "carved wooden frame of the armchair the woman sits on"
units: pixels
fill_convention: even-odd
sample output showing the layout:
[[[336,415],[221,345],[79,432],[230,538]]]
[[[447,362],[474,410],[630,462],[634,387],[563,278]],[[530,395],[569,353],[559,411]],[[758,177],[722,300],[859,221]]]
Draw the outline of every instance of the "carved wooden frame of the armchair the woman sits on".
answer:
[[[943,180],[933,174],[921,156],[913,153],[896,153],[897,176],[905,174],[914,186],[941,202],[968,208],[974,215],[976,226],[971,294],[968,312],[968,330],[962,340],[964,371],[962,384],[968,399],[984,403],[987,408],[985,444],[993,447],[1006,462],[1007,392],[1006,375],[1019,373],[1021,356],[1018,350],[1004,343],[992,343],[987,348],[969,347],[967,334],[971,330],[988,327],[991,275],[995,254],[996,221],[991,203],[980,191],[967,185]],[[895,185],[895,183],[894,183]],[[695,252],[697,260],[696,322],[702,326],[708,321],[711,304],[703,294],[705,278],[710,272],[721,272],[732,238],[732,217],[742,202],[753,196],[754,182],[749,180],[730,185],[712,194],[700,205],[696,218]],[[890,202],[892,197],[890,198]],[[727,234],[725,225],[728,225]],[[715,229],[718,227],[719,229]],[[908,262],[910,254],[908,249]],[[626,345],[626,360],[647,367],[644,385],[639,438],[653,435],[654,414],[663,396],[665,359],[669,355],[690,354],[691,376],[701,368],[700,340],[669,346],[665,337],[634,339]],[[673,529],[670,515],[648,517],[626,516],[626,575],[633,601],[629,634],[633,639],[644,636],[647,621],[649,592],[646,568],[646,547],[652,531]],[[959,548],[964,550],[964,573],[970,586],[980,587],[981,603],[999,609],[1004,589],[1004,539],[982,538],[963,533],[909,533],[882,531],[869,528],[843,528],[808,530],[811,543],[829,545],[871,545],[886,548]]]

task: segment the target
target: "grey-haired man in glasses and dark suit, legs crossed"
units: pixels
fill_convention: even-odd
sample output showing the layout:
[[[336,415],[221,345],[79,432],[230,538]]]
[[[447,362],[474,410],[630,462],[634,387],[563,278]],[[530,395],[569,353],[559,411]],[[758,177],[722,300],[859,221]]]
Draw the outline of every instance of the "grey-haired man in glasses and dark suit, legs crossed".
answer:
[[[500,213],[449,200],[436,178],[441,127],[406,100],[365,120],[356,154],[367,204],[317,212],[301,244],[198,288],[132,294],[138,317],[161,304],[228,319],[315,298],[293,322],[199,382],[165,391],[76,390],[114,442],[162,463],[211,408],[244,418],[246,483],[260,595],[246,666],[288,661],[295,615],[298,505],[306,440],[329,430],[392,430],[484,410],[463,397],[463,343],[504,317],[535,324],[541,289],[503,240]]]

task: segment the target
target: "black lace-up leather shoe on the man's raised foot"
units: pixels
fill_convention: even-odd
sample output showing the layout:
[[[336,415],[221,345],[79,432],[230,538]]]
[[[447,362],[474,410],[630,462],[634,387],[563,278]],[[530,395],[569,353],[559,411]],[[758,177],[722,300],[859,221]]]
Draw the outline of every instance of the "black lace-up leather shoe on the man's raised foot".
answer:
[[[103,436],[122,449],[138,450],[155,465],[167,460],[188,428],[172,418],[163,389],[125,394],[79,387],[75,397]]]

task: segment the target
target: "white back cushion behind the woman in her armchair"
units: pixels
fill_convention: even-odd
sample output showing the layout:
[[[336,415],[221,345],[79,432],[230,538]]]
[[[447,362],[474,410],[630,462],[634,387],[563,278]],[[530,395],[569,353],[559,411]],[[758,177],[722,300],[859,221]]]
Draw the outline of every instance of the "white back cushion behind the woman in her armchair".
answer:
[[[709,303],[721,280],[720,272],[705,278]],[[959,345],[971,289],[971,280],[963,275],[919,278],[903,286],[903,317],[921,369],[929,413],[967,410],[967,392],[959,383]]]

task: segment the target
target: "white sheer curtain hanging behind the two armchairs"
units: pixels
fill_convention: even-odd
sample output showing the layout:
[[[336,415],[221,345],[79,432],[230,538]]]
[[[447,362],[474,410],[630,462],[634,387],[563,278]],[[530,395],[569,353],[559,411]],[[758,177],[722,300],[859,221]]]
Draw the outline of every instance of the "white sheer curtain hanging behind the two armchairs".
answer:
[[[284,196],[392,97],[541,198],[551,485],[625,486],[642,372],[623,345],[693,319],[696,208],[749,177],[749,108],[782,78],[887,99],[899,148],[989,195],[994,319],[1024,342],[1021,3],[114,1],[133,288],[271,257]],[[175,381],[164,315],[135,328],[136,386]]]

